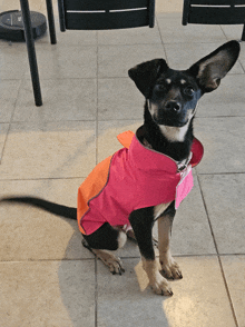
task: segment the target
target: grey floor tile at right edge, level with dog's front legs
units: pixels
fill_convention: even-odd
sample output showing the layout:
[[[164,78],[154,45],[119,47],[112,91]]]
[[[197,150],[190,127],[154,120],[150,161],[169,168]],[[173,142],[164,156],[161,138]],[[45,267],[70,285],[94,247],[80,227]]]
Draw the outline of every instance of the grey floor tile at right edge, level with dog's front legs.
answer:
[[[220,254],[245,254],[245,176],[199,176],[200,187]]]

